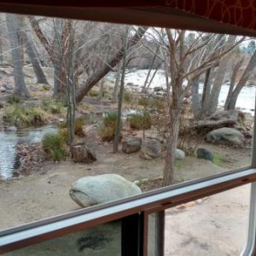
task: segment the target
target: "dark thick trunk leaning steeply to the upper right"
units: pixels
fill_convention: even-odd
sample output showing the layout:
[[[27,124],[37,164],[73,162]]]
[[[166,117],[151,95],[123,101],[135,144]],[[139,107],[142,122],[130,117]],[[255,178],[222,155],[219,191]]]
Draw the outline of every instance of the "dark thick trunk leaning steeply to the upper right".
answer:
[[[143,35],[146,31],[147,27],[140,26],[134,36],[129,40],[127,50],[136,45],[141,40],[141,38],[143,38]],[[85,83],[79,88],[76,101],[81,102],[88,91],[96,83],[98,83],[100,79],[107,75],[109,71],[113,70],[113,67],[119,63],[119,61],[123,58],[123,55],[124,49],[120,49],[118,53],[113,55],[112,59],[108,61],[108,65],[105,65],[105,67],[102,67],[101,69],[96,70],[95,73],[92,73],[90,77],[85,81]]]

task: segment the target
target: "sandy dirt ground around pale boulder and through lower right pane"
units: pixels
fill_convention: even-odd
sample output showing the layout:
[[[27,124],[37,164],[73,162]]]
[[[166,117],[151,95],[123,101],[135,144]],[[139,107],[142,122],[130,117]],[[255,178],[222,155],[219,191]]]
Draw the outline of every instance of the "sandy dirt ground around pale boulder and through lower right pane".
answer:
[[[134,181],[162,175],[163,159],[143,160],[139,153],[113,154],[112,144],[102,143],[93,132],[85,141],[96,149],[97,161],[93,164],[45,162],[38,172],[0,183],[1,229],[78,210],[80,207],[68,191],[79,177],[117,173]],[[195,157],[177,161],[176,183],[249,164],[248,149],[202,146],[218,154],[219,162],[213,164]],[[144,189],[154,189],[154,182],[148,184]],[[248,187],[167,210],[165,255],[239,255],[247,232]]]

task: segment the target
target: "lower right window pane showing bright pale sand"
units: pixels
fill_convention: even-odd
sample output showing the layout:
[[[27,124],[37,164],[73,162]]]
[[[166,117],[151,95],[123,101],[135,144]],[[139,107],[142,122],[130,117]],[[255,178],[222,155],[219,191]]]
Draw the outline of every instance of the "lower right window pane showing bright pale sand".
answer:
[[[245,185],[166,210],[165,256],[240,255],[248,204]]]

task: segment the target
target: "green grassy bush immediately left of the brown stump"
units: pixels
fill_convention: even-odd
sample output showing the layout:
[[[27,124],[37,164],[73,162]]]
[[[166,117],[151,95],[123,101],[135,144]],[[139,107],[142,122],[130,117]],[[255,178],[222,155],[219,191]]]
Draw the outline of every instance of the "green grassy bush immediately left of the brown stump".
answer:
[[[42,139],[42,148],[49,159],[59,161],[65,157],[65,138],[60,133],[46,133]]]

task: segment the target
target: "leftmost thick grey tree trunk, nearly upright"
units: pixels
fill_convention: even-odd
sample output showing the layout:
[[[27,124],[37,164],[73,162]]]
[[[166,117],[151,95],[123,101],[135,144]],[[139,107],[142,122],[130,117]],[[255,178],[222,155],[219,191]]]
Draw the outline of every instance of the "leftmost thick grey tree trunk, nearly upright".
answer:
[[[7,27],[9,31],[9,41],[12,47],[12,57],[14,62],[15,94],[28,98],[29,92],[26,88],[24,74],[22,70],[22,60],[20,56],[20,44],[18,41],[18,21],[16,15],[7,14]]]

